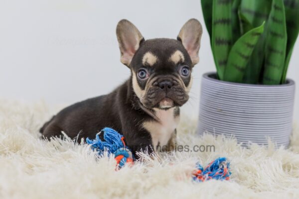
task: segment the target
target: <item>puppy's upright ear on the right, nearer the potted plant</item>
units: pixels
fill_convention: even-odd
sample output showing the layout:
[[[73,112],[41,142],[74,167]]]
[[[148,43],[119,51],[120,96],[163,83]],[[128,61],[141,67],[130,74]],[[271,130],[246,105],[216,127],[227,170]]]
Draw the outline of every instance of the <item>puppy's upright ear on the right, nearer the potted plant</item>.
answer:
[[[188,54],[192,64],[199,62],[198,51],[200,48],[200,39],[202,35],[202,26],[197,19],[189,19],[178,33],[177,40],[181,41]]]

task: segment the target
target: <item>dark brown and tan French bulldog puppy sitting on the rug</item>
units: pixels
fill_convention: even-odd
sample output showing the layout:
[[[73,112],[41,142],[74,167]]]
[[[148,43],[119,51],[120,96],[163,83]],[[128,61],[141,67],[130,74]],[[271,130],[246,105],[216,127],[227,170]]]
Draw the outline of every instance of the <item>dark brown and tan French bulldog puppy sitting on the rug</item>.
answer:
[[[95,138],[104,127],[124,135],[133,153],[174,149],[179,107],[188,100],[202,26],[188,20],[177,39],[145,40],[130,21],[116,28],[121,62],[131,77],[112,93],[68,106],[41,127],[44,138]]]

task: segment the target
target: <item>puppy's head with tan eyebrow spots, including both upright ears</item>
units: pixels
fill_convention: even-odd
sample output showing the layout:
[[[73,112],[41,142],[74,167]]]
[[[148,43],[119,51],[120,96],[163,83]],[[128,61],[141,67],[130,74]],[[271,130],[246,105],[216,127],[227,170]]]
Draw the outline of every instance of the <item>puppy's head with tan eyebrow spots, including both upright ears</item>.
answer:
[[[201,34],[196,19],[183,25],[177,40],[145,40],[130,21],[118,23],[121,62],[131,69],[134,92],[145,107],[168,109],[188,100]]]

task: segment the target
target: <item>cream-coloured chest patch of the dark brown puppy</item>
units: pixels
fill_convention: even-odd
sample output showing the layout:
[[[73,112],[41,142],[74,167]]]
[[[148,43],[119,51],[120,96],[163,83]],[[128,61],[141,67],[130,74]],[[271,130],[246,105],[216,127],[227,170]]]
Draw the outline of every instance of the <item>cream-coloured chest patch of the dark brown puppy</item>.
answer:
[[[178,125],[179,115],[175,114],[175,108],[170,108],[156,109],[155,116],[159,121],[144,122],[144,128],[149,131],[154,147],[167,145]]]

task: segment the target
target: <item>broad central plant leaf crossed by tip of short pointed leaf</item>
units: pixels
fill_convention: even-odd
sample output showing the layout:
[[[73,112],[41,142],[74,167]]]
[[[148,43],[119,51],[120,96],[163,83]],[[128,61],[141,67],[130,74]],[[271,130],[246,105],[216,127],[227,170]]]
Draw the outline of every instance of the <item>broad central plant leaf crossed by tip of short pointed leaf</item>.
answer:
[[[240,5],[240,15],[244,16],[248,22],[253,26],[260,26],[267,20],[271,11],[272,0],[242,0]],[[265,31],[261,35],[254,51],[252,52],[251,59],[249,60],[246,73],[244,76],[244,83],[258,84],[260,74],[264,64],[265,57]]]

